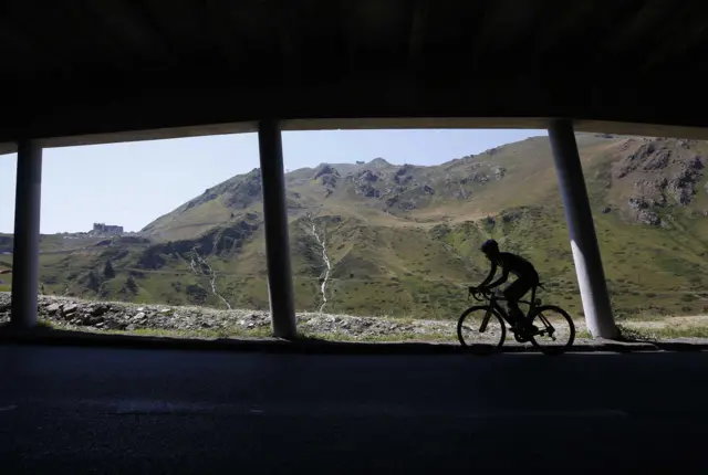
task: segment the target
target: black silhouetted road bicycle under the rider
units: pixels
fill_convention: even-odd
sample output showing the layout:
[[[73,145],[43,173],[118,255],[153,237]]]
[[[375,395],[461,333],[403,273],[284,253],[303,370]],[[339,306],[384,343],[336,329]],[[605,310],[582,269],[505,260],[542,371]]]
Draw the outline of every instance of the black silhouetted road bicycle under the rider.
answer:
[[[532,287],[530,300],[519,300],[520,304],[529,306],[524,318],[530,324],[530,328],[517,331],[513,329],[513,324],[509,319],[507,310],[499,305],[499,303],[504,302],[506,298],[499,297],[493,292],[485,292],[469,287],[467,294],[468,299],[471,295],[478,302],[487,300],[487,304],[470,307],[460,315],[457,321],[457,338],[460,344],[464,347],[470,347],[470,349],[476,350],[491,346],[491,350],[496,351],[504,344],[507,337],[504,323],[507,323],[510,326],[509,331],[513,332],[513,337],[518,342],[524,344],[530,341],[531,345],[541,349],[545,355],[561,355],[573,346],[573,341],[575,340],[575,325],[573,324],[573,319],[568,315],[568,312],[561,307],[555,305],[541,305],[541,300],[535,298],[537,288],[543,288],[543,285],[539,283]],[[476,320],[478,315],[480,318]],[[568,329],[564,327],[561,328],[560,324],[553,325],[551,323],[552,320],[568,324]],[[464,330],[471,330],[471,332],[464,334]],[[475,335],[481,335],[482,341],[470,342],[471,337]],[[556,341],[556,337],[565,337],[566,342],[551,347],[540,342],[540,340],[543,341],[542,337],[549,337],[552,341]]]

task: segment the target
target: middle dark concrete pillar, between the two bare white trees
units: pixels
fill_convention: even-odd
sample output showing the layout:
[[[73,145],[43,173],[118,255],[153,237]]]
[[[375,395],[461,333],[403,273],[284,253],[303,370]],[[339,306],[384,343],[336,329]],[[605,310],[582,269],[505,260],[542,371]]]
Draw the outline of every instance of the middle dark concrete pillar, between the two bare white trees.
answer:
[[[296,336],[295,304],[290,265],[283,147],[278,122],[259,123],[258,146],[263,182],[270,317],[274,336],[293,339]]]

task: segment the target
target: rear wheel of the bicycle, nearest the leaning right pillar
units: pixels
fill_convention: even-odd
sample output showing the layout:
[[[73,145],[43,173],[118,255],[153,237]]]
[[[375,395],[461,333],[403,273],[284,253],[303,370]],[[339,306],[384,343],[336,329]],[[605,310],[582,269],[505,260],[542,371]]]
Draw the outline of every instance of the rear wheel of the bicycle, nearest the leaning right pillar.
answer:
[[[555,305],[537,308],[530,316],[531,325],[539,331],[531,337],[531,344],[545,355],[561,355],[575,341],[575,324],[568,312]]]

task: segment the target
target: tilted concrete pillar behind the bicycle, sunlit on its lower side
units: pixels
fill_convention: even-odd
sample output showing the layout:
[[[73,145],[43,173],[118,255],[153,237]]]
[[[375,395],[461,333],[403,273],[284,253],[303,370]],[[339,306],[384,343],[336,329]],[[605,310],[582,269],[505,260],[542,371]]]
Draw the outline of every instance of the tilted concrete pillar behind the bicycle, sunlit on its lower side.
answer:
[[[600,246],[572,122],[565,119],[551,122],[549,137],[563,197],[565,222],[571,236],[587,328],[595,338],[616,338],[618,330],[612,314],[610,293],[600,257]]]

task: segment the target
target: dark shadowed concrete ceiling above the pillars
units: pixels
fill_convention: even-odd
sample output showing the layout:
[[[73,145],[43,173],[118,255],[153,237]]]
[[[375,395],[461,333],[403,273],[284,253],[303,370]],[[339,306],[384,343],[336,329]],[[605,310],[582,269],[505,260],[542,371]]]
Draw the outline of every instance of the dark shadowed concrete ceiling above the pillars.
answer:
[[[571,117],[579,129],[708,138],[706,116],[689,115],[708,105],[704,1],[10,0],[0,9],[0,142],[242,131],[263,118],[336,128],[362,117],[373,127]]]

